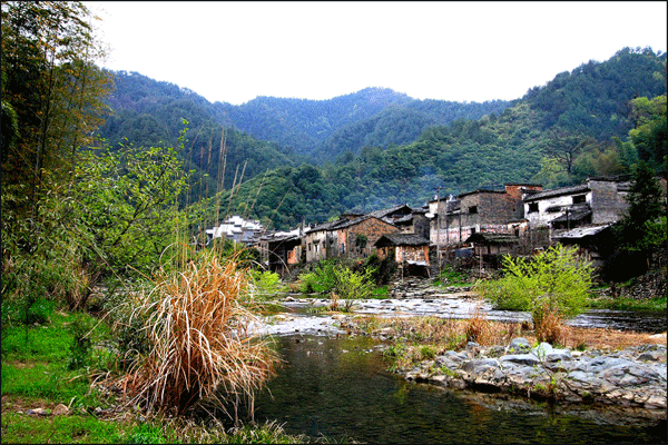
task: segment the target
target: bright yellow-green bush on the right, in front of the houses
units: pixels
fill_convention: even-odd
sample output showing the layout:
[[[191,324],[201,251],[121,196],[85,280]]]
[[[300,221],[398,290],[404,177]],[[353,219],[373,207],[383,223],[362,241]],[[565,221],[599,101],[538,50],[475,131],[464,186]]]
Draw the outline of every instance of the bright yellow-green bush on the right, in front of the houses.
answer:
[[[587,305],[592,267],[574,248],[557,245],[532,258],[503,259],[504,277],[477,285],[499,308],[531,312],[534,323],[544,314],[571,317]]]

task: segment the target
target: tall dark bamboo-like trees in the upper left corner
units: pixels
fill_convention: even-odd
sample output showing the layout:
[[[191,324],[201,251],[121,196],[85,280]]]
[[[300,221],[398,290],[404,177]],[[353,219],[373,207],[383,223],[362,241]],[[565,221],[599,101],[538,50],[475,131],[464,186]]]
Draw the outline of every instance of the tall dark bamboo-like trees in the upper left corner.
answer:
[[[109,77],[81,2],[2,2],[2,99],[16,111],[19,137],[3,146],[3,186],[27,186],[31,219],[45,174],[68,178],[76,150],[91,141],[106,109]]]

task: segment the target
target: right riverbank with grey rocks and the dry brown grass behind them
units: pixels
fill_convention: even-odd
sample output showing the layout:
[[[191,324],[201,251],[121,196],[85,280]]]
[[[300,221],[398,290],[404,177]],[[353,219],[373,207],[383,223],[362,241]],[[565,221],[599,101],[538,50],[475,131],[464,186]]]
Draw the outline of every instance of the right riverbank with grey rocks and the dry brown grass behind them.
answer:
[[[570,347],[484,319],[350,317],[352,335],[385,340],[391,370],[441,387],[511,393],[566,404],[638,407],[666,417],[666,334],[567,328]],[[474,330],[478,329],[477,332]],[[478,335],[480,343],[466,337]]]

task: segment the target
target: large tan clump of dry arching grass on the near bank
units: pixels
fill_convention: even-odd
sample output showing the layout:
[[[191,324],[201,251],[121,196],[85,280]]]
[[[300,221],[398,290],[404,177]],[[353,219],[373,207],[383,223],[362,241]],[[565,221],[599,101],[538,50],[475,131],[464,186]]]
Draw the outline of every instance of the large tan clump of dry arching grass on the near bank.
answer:
[[[239,300],[247,274],[215,255],[163,273],[140,297],[134,316],[146,319],[149,350],[126,376],[132,403],[184,414],[197,403],[253,404],[273,374],[276,355],[248,334],[253,314]],[[250,409],[252,412],[252,409]]]

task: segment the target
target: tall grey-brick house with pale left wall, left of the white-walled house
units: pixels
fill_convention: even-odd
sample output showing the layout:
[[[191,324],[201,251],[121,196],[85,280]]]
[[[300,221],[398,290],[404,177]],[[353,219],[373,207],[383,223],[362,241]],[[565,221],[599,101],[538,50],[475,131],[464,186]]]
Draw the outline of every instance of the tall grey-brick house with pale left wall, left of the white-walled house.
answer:
[[[451,197],[445,201],[430,201],[432,218],[430,240],[439,246],[459,245],[477,233],[509,233],[511,221],[521,225],[524,217],[522,196],[540,191],[542,186],[507,184],[503,190],[478,189]]]

